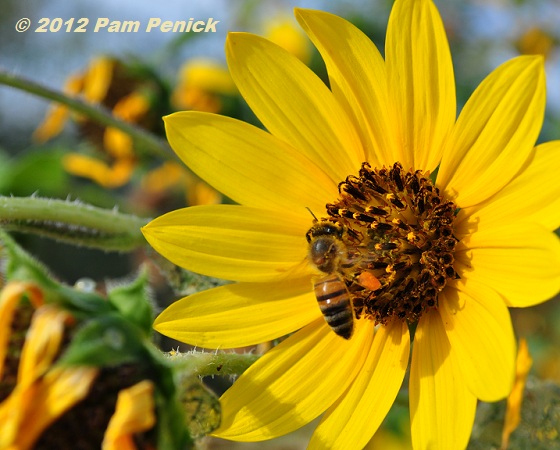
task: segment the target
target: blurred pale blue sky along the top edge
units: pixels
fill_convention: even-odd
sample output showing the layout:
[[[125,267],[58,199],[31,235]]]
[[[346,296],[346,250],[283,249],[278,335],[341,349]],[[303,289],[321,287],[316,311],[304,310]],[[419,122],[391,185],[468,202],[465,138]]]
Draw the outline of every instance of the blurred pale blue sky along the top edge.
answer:
[[[323,9],[343,16],[356,11],[367,14],[369,19],[386,24],[390,0],[2,0],[3,11],[0,16],[0,67],[25,76],[53,89],[61,89],[66,77],[87,66],[88,61],[97,54],[110,53],[116,56],[137,55],[155,64],[164,76],[173,77],[181,63],[195,56],[216,59],[224,57],[223,45],[228,31],[252,31],[259,33],[262,21],[279,13],[292,15],[294,6]],[[437,1],[446,21],[446,26],[459,27],[459,31],[471,39],[473,51],[477,42],[484,40],[514,39],[523,27],[538,24],[554,27],[560,23],[560,1],[527,0],[525,5],[512,8],[513,0],[459,0]],[[240,12],[239,5],[252,8],[247,18]],[[255,6],[256,5],[256,6]],[[468,5],[468,7],[465,7]],[[536,7],[535,5],[538,5]],[[515,12],[515,13],[514,13]],[[31,27],[18,33],[15,26],[18,20],[29,18]],[[58,23],[56,21],[57,18]],[[74,19],[71,25],[68,20]],[[138,21],[140,29],[136,33],[109,33],[102,29],[94,32],[99,18],[110,21]],[[216,32],[200,33],[173,59],[163,58],[163,50],[178,37],[178,33],[153,30],[146,32],[150,18],[162,21],[208,20],[218,21]],[[455,18],[456,23],[453,24]],[[36,32],[42,23],[57,32]],[[78,27],[80,19],[88,19],[85,32],[66,32],[70,27]],[[384,25],[383,25],[384,26]],[[488,55],[490,72],[501,62],[515,56],[513,48],[495,46]],[[162,61],[160,63],[160,61]],[[165,65],[163,63],[165,62]],[[469,69],[469,61],[461,61],[460,70]],[[479,70],[474,67],[474,70]],[[470,69],[469,69],[470,70]],[[560,115],[560,57],[547,64],[548,108]],[[42,99],[0,86],[0,133],[28,133],[45,114],[48,103]],[[20,139],[25,145],[25,139]]]

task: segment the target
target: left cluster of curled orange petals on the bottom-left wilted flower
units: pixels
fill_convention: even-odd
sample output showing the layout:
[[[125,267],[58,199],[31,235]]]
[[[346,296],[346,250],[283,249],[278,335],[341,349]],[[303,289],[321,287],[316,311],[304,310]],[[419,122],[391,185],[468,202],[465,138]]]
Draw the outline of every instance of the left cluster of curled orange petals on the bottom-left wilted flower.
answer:
[[[6,398],[0,399],[0,448],[20,450],[33,448],[48,426],[88,394],[98,374],[95,367],[53,367],[65,325],[72,317],[64,310],[42,305],[42,293],[37,286],[14,282],[0,294],[2,380],[13,379],[10,372],[15,360],[9,355],[11,323],[22,325],[17,321],[17,312],[24,295],[30,297],[37,311],[21,349],[16,384]]]

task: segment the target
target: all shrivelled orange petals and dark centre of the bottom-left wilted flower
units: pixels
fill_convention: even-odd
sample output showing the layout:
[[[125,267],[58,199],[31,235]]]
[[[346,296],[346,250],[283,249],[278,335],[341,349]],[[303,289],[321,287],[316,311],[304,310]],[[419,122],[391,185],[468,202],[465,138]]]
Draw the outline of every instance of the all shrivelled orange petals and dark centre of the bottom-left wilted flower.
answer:
[[[29,325],[26,318],[30,319]],[[128,368],[125,372],[129,378],[120,379],[116,369],[113,376],[117,381],[108,382],[109,372],[101,376],[101,368],[93,364],[58,365],[75,319],[65,309],[44,303],[37,285],[11,282],[2,290],[0,325],[1,449],[68,448],[78,443],[81,448],[96,448],[96,439],[104,436],[106,450],[133,450],[137,448],[133,435],[154,427],[153,383],[144,380],[120,391],[104,432],[104,416],[111,413],[107,408],[111,407],[112,390],[137,375]],[[19,355],[17,346],[26,329]],[[95,398],[88,401],[96,383]],[[69,413],[79,408],[80,402],[85,402],[86,410]],[[91,423],[84,429],[86,417]],[[78,435],[79,429],[82,431]],[[97,442],[97,448],[100,444]]]

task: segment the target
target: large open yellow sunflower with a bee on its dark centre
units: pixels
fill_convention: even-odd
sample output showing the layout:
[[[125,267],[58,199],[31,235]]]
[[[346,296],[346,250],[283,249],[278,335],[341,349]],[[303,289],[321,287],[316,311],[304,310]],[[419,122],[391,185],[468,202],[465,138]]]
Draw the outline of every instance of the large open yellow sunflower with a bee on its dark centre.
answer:
[[[464,448],[477,399],[512,388],[507,308],[560,289],[560,141],[534,147],[543,60],[498,67],[456,119],[430,0],[395,2],[385,59],[339,17],[296,17],[330,89],[266,39],[233,33],[232,77],[268,132],[208,113],[165,119],[181,159],[239,205],[174,211],[144,234],[174,263],[237,283],[177,301],[155,327],[220,349],[290,335],[222,396],[215,436],[269,439],[323,414],[310,448],[361,448],[412,353],[414,448]]]

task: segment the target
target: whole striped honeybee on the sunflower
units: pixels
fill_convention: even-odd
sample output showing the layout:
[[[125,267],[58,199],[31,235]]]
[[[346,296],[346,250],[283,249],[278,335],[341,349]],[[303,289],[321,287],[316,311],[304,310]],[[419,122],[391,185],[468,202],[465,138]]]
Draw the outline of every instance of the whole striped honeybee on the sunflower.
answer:
[[[354,307],[340,273],[347,262],[346,246],[342,240],[344,229],[331,222],[318,222],[307,232],[309,260],[325,276],[314,285],[315,297],[325,321],[344,339],[354,331]]]

